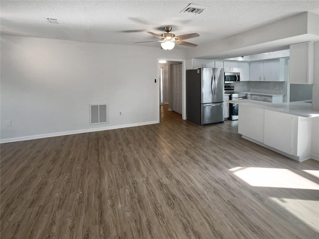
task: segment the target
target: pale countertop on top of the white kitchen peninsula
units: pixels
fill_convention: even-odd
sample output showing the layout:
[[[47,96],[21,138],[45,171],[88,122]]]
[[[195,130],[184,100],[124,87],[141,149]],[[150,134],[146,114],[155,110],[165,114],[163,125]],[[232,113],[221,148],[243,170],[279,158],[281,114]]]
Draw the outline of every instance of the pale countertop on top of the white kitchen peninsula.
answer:
[[[301,116],[301,117],[319,117],[319,111],[312,109],[311,103],[306,103],[307,101],[297,101],[288,103],[269,103],[254,100],[237,100],[237,101],[226,101],[232,104],[245,105],[251,107],[258,107],[265,110],[278,111],[291,115]],[[240,111],[240,110],[239,110]]]

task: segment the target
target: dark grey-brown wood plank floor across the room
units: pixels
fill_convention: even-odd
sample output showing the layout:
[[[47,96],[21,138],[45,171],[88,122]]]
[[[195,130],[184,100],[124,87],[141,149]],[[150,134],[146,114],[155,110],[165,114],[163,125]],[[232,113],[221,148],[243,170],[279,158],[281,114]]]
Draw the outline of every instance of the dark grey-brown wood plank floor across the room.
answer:
[[[319,162],[237,121],[160,123],[1,144],[1,239],[315,239]]]

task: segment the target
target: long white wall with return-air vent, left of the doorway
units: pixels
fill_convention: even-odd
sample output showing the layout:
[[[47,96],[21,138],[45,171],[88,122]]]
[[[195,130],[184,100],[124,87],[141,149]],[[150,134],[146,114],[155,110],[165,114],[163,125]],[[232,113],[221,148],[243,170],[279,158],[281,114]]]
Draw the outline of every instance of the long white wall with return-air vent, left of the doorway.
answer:
[[[185,52],[1,36],[1,142],[158,122],[158,57]],[[90,125],[99,103],[109,123]]]

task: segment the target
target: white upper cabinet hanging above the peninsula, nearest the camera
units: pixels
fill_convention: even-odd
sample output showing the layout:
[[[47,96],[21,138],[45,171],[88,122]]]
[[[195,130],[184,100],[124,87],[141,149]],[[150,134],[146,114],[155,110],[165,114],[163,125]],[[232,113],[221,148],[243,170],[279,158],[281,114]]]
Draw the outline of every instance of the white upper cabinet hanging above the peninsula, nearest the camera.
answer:
[[[314,83],[314,43],[290,45],[290,83]]]

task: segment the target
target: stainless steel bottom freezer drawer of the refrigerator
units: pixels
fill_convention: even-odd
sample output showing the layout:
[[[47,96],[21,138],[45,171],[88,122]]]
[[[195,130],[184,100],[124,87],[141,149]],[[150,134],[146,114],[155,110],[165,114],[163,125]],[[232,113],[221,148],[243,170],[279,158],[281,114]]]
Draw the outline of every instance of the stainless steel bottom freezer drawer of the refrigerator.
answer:
[[[211,103],[201,105],[201,124],[224,121],[224,103]]]

